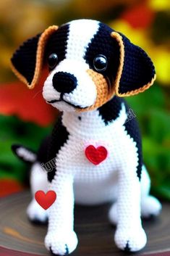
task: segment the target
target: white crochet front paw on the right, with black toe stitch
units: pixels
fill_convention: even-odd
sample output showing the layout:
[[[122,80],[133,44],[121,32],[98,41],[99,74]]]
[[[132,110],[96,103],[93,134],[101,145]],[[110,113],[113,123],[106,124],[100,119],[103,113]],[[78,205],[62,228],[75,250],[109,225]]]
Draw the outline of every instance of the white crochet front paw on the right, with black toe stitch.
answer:
[[[137,252],[145,247],[147,237],[143,228],[118,228],[114,236],[116,246],[127,252]]]

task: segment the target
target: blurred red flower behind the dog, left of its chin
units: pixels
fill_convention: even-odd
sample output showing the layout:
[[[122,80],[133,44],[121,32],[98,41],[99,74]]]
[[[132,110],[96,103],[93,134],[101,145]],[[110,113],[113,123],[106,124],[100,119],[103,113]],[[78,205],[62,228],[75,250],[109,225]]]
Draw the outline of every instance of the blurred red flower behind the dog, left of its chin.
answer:
[[[29,90],[20,82],[1,85],[0,114],[17,115],[21,120],[41,126],[53,123],[58,111],[43,99],[42,84],[43,79],[33,90]]]

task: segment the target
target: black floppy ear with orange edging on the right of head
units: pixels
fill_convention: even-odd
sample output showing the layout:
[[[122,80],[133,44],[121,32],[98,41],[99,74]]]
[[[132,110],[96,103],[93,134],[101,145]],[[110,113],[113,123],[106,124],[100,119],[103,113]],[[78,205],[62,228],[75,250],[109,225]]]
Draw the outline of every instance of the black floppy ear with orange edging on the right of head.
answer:
[[[145,91],[156,80],[156,71],[150,57],[124,35],[112,32],[119,44],[119,67],[115,80],[117,96],[131,96]]]

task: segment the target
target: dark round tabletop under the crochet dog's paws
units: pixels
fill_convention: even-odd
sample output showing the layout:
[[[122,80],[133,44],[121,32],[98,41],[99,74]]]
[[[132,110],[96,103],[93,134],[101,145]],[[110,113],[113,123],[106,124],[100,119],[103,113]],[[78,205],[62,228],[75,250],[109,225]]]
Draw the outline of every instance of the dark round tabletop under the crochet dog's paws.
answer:
[[[33,256],[50,255],[43,244],[46,226],[35,226],[27,220],[25,210],[30,202],[30,193],[23,191],[4,197],[0,202],[0,255]],[[75,207],[75,231],[79,245],[72,256],[124,256],[114,244],[115,228],[109,224],[110,205]],[[152,220],[143,220],[148,236],[145,249],[135,256],[170,256],[170,204],[163,203],[161,215]],[[129,255],[129,254],[128,254]],[[134,255],[134,254],[130,254]]]

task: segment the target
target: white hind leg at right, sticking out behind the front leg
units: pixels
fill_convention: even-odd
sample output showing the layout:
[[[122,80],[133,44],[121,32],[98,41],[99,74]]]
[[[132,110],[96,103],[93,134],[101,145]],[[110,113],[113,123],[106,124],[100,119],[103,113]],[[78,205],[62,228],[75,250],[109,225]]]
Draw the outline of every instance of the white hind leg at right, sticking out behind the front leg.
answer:
[[[161,203],[156,197],[150,196],[150,177],[143,165],[141,176],[141,215],[143,218],[157,216],[161,212]]]

